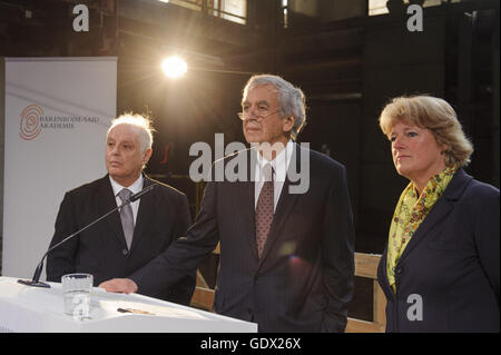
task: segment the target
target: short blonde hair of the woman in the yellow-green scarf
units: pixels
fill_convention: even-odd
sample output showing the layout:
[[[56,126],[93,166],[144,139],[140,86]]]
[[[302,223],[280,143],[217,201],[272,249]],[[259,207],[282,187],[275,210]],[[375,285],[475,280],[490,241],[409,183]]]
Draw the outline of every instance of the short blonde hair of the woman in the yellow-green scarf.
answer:
[[[445,165],[464,167],[470,162],[473,145],[445,100],[425,95],[394,98],[380,115],[381,130],[390,138],[393,126],[400,121],[431,130],[445,147]]]

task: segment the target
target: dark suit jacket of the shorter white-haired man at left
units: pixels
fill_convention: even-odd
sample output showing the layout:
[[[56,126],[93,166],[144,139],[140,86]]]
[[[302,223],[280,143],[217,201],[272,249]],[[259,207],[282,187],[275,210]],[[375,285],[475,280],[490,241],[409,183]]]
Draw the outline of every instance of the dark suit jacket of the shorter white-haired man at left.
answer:
[[[47,279],[60,282],[65,274],[88,273],[94,275],[97,286],[110,278],[128,277],[184,235],[191,224],[186,196],[145,176],[144,187],[151,184],[158,185],[139,200],[130,250],[116,211],[49,253]],[[108,175],[68,191],[59,208],[50,245],[56,245],[114,207],[117,203]],[[147,295],[187,305],[195,289],[195,277],[196,273],[191,272],[173,287],[159,288]]]

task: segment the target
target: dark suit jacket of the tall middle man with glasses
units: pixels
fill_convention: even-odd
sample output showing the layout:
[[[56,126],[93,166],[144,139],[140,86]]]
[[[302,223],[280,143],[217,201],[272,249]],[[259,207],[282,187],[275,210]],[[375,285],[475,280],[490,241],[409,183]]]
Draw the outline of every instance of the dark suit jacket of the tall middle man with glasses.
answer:
[[[303,148],[295,145],[298,149]],[[242,154],[248,158],[255,151],[244,150],[218,162],[227,166]],[[306,154],[310,189],[292,195],[292,183],[284,183],[261,259],[254,181],[213,180],[187,237],[132,275],[139,292],[169,285],[191,272],[220,240],[214,304],[218,314],[255,322],[259,332],[343,332],[354,275],[345,169],[325,155]],[[301,166],[301,155],[292,159]]]

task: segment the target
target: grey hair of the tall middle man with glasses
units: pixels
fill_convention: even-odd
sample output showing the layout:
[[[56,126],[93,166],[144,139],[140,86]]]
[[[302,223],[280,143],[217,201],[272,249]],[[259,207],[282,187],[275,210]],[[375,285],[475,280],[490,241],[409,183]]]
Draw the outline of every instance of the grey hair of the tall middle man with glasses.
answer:
[[[296,118],[291,135],[294,140],[306,125],[306,97],[303,90],[293,86],[287,80],[273,75],[253,76],[244,88],[243,97],[255,87],[271,85],[278,91],[278,111],[281,117],[294,116]]]

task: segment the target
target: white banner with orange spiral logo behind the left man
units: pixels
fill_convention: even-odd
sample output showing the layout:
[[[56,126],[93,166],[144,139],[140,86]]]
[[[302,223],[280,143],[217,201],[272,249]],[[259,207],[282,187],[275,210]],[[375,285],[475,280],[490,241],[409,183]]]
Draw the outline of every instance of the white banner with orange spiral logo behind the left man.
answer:
[[[31,278],[65,191],[106,174],[116,90],[116,58],[6,58],[3,275]]]

